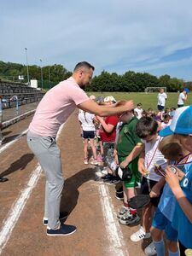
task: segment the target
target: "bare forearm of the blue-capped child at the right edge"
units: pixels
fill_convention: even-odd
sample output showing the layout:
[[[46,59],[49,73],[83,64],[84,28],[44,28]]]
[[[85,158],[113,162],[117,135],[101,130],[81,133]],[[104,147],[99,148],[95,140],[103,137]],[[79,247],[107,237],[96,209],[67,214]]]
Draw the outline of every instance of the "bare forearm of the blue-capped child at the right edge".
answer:
[[[179,179],[176,174],[172,173],[169,167],[166,167],[166,183],[172,189],[172,193],[175,195],[178,204],[182,208],[184,214],[192,224],[192,204],[188,201],[179,185]]]

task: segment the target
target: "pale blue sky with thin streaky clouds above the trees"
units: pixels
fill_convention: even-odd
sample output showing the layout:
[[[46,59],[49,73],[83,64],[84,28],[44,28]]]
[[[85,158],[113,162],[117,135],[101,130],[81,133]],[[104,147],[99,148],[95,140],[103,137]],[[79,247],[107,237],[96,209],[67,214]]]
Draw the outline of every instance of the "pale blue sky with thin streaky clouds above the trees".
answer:
[[[6,0],[0,14],[0,61],[192,81],[191,0]]]

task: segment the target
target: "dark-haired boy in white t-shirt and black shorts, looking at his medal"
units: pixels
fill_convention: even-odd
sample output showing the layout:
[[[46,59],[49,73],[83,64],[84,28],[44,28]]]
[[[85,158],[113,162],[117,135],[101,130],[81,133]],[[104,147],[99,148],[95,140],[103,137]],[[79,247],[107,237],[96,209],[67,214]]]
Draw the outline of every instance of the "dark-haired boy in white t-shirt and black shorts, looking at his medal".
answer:
[[[141,228],[131,235],[131,241],[140,241],[150,237],[151,219],[160,201],[160,190],[164,185],[161,177],[154,172],[154,164],[166,168],[166,159],[158,149],[161,140],[158,130],[159,125],[152,117],[143,117],[137,122],[137,136],[143,139],[144,144],[143,152],[140,154],[138,160],[138,171],[143,175],[141,194],[150,194],[151,201],[146,207],[143,207]]]

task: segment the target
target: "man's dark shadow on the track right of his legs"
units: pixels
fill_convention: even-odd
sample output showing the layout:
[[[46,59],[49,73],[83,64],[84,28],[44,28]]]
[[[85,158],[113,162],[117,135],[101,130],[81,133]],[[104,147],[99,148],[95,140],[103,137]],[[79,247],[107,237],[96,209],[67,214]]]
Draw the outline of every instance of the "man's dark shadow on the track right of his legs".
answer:
[[[61,210],[72,212],[76,207],[79,198],[79,187],[90,180],[95,180],[95,172],[91,168],[86,168],[68,177],[64,183],[61,198]]]

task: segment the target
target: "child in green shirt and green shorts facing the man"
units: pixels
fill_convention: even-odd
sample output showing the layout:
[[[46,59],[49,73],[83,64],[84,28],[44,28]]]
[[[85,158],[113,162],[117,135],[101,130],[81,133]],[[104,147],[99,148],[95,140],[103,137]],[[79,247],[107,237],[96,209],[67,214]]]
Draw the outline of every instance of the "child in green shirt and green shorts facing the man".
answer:
[[[119,102],[123,103],[123,102]],[[129,207],[129,200],[135,196],[135,187],[141,181],[141,174],[138,172],[137,161],[141,153],[143,144],[136,133],[138,119],[133,111],[122,113],[119,120],[123,122],[119,130],[119,138],[115,150],[115,160],[120,167],[128,166],[131,169],[132,176],[129,180],[123,181],[124,206],[119,211],[120,224],[133,224],[140,220],[136,209]]]

